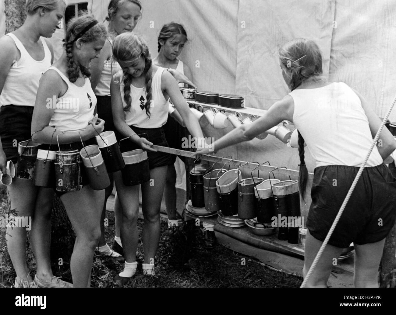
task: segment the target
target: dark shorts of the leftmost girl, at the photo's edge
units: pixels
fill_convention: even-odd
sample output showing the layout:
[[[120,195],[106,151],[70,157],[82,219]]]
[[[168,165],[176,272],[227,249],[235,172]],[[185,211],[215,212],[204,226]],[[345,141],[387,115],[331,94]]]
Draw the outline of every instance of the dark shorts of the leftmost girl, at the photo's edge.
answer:
[[[0,137],[7,160],[18,160],[18,143],[30,139],[33,106],[0,107]]]

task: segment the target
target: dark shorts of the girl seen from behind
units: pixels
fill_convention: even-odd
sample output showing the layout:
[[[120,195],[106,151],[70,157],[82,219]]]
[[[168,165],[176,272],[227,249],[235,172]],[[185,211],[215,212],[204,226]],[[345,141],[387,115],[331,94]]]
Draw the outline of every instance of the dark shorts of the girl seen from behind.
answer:
[[[307,228],[324,241],[359,168],[330,165],[315,168]],[[394,226],[396,179],[385,164],[364,169],[329,244],[346,248],[383,240]]]

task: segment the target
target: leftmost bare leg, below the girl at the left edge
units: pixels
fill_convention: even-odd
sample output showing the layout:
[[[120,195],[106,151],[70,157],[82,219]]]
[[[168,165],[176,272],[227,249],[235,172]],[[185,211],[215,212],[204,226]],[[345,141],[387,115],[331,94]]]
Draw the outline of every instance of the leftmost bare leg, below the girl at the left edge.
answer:
[[[17,164],[15,164],[17,168]],[[15,209],[19,217],[32,217],[34,213],[34,204],[36,202],[36,187],[30,179],[20,179],[14,177],[12,184],[8,187],[11,198],[11,210]],[[9,215],[10,217],[13,215]],[[30,221],[32,222],[32,221]],[[26,263],[26,229],[25,228],[7,228],[6,241],[8,253],[10,254],[12,265],[17,274],[17,278],[27,280],[29,269]],[[32,279],[28,279],[32,281]]]

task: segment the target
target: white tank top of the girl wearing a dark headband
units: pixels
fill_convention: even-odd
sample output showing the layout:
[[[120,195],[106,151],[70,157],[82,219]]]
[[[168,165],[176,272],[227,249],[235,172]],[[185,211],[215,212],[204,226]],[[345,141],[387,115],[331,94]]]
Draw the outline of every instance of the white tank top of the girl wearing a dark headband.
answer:
[[[52,104],[56,104],[49,126],[64,132],[85,130],[93,118],[96,106],[96,96],[92,91],[91,82],[86,77],[84,86],[78,87],[70,82],[69,78],[58,68],[51,66],[48,70],[55,70],[68,87],[65,95],[61,98],[47,99],[47,108],[53,108]]]

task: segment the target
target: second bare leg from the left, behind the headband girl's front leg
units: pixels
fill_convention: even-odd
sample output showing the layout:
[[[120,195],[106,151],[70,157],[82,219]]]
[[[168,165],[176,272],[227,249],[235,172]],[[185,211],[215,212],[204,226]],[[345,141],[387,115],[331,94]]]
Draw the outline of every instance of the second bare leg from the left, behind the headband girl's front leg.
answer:
[[[36,258],[37,277],[43,281],[51,281],[51,210],[54,198],[52,188],[37,189],[36,206],[30,239],[34,258]]]

